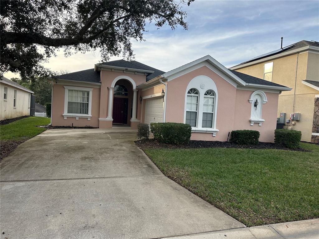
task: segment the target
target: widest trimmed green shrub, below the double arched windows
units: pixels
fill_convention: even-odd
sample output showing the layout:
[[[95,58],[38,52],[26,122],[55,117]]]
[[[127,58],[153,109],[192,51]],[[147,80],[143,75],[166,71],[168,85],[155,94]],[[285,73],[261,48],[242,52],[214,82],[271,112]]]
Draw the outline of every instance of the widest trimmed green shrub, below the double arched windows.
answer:
[[[161,143],[186,144],[190,140],[192,128],[182,123],[151,123],[154,139]]]

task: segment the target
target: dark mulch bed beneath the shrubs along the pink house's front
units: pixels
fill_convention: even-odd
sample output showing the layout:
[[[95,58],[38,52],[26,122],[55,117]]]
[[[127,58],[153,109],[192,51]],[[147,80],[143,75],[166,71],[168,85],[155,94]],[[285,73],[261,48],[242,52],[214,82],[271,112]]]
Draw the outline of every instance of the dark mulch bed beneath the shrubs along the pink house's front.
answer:
[[[135,145],[141,149],[154,149],[154,148],[256,148],[256,149],[283,149],[283,150],[292,150],[292,151],[303,151],[309,152],[309,150],[304,148],[290,149],[279,146],[274,143],[264,143],[259,142],[258,145],[238,145],[233,142],[221,142],[221,141],[200,141],[200,140],[191,140],[188,144],[182,145],[173,145],[166,143],[159,143],[154,139],[150,140],[137,140]]]

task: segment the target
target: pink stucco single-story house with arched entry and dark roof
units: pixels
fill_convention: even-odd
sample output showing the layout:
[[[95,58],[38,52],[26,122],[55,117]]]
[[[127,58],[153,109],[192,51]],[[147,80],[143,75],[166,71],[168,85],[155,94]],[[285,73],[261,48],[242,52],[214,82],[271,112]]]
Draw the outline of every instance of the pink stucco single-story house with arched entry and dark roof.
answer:
[[[192,126],[191,139],[218,141],[232,130],[252,129],[272,142],[278,95],[291,90],[231,71],[209,55],[166,73],[118,60],[51,81],[53,126],[180,122]]]

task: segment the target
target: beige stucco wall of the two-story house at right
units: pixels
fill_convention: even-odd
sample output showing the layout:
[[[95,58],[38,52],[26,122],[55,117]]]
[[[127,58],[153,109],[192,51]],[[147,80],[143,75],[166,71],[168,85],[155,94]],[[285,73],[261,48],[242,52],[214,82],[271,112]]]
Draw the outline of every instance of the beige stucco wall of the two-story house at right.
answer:
[[[300,113],[301,120],[293,120],[295,126],[286,127],[300,130],[302,133],[301,140],[310,142],[314,98],[319,91],[303,84],[302,80],[319,81],[319,54],[311,52],[296,53],[236,69],[236,71],[263,78],[263,67],[268,62],[273,62],[272,82],[292,88],[291,91],[283,91],[279,95],[277,117],[279,117],[280,112],[286,113],[286,119],[289,119],[289,114],[293,112]]]

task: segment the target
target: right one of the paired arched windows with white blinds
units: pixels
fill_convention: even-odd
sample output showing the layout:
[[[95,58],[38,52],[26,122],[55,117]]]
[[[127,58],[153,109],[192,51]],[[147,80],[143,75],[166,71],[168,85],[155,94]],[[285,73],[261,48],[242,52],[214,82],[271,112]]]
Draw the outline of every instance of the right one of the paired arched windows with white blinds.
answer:
[[[203,128],[213,127],[214,103],[215,103],[214,91],[207,90],[204,93],[204,101],[203,101],[203,120],[202,120]]]

